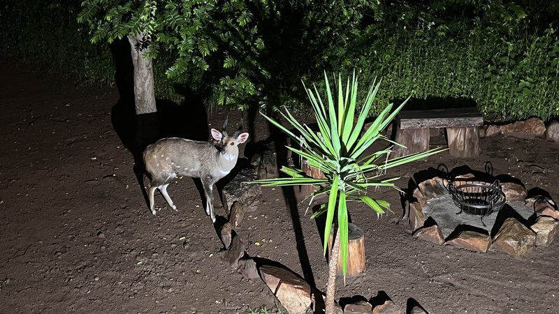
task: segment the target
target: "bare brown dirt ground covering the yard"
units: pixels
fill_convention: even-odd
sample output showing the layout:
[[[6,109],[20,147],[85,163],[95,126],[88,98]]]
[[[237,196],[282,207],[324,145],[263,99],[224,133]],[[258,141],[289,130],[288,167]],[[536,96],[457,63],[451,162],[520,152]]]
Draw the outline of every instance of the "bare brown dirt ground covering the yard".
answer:
[[[117,89],[79,87],[11,62],[0,63],[0,73],[0,313],[245,313],[275,306],[266,285],[243,279],[222,260],[191,179],[169,187],[178,213],[158,195],[161,211],[150,214],[133,157],[112,126]],[[214,112],[209,120],[223,118]],[[266,137],[262,121],[256,130]],[[440,163],[483,170],[491,161],[495,173],[559,200],[558,144],[494,137],[481,145],[473,160],[445,152],[393,174],[405,187],[414,172]],[[534,165],[544,171],[532,173]],[[281,262],[325,291],[327,264],[305,205],[293,220],[281,190],[263,193],[239,230],[248,253]],[[430,313],[558,313],[557,242],[516,258],[437,246],[409,234],[397,192],[379,196],[394,214],[377,220],[364,207],[351,209],[365,232],[368,271],[345,286],[338,281],[337,298],[384,291],[402,308],[413,298]]]

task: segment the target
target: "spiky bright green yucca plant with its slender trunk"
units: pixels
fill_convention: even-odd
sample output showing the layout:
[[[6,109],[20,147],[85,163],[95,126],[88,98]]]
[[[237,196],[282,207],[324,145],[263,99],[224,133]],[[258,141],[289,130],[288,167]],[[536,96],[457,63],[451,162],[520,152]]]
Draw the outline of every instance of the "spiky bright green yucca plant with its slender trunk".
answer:
[[[314,110],[319,132],[314,132],[306,124],[301,124],[287,110],[281,112],[281,114],[295,128],[296,132],[285,128],[265,114],[263,116],[284,133],[300,142],[300,149],[287,148],[303,156],[307,160],[308,165],[317,167],[324,172],[326,179],[309,177],[300,169],[282,167],[282,172],[289,177],[262,179],[257,182],[263,186],[312,185],[318,190],[310,195],[311,197],[318,195],[328,196],[328,202],[321,207],[321,210],[312,215],[312,218],[316,218],[320,214],[326,213],[326,227],[324,230],[325,254],[328,246],[328,235],[331,233],[334,215],[337,211],[337,235],[331,252],[326,296],[326,311],[328,312],[328,304],[331,304],[330,311],[333,311],[338,252],[341,253],[342,271],[345,281],[348,246],[347,202],[363,202],[375,211],[377,215],[384,214],[385,210],[390,209],[389,203],[368,196],[368,188],[388,186],[398,189],[392,183],[393,180],[398,178],[386,178],[386,170],[425,158],[442,151],[442,149],[433,149],[390,160],[389,154],[393,145],[389,145],[388,148],[380,151],[368,152],[368,148],[377,140],[400,145],[382,135],[381,131],[391,123],[407,100],[393,111],[391,111],[392,104],[386,106],[375,121],[370,124],[370,127],[364,130],[365,118],[369,115],[373,100],[375,100],[379,90],[380,82],[372,83],[365,98],[365,103],[361,106],[361,110],[358,111],[358,83],[355,72],[352,77],[348,77],[345,89],[342,86],[341,77],[338,77],[337,95],[334,95],[331,91],[326,73],[324,76],[326,80],[326,100],[323,101],[316,86],[314,86],[313,90],[305,87]]]

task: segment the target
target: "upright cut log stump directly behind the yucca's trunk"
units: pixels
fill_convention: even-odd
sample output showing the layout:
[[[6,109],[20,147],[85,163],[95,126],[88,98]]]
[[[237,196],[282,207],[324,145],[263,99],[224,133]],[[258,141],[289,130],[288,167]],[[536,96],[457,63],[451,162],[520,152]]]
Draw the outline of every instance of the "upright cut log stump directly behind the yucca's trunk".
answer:
[[[365,269],[365,234],[360,227],[353,223],[348,223],[348,246],[347,246],[347,277],[355,277],[362,274]],[[332,251],[333,233],[331,232],[328,239],[328,255]],[[340,252],[341,254],[341,252]],[[343,276],[342,257],[337,259],[337,276]]]

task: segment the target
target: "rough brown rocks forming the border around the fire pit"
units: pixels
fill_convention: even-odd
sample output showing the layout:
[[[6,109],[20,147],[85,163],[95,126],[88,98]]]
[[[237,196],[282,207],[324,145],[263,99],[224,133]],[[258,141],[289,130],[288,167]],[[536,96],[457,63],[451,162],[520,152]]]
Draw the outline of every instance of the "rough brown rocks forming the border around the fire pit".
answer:
[[[472,179],[473,177],[473,174],[465,174],[456,179]],[[407,218],[412,234],[414,237],[426,239],[435,244],[449,244],[481,253],[486,253],[491,247],[513,256],[525,255],[534,246],[549,246],[559,238],[559,210],[553,200],[545,197],[532,197],[526,200],[526,190],[520,184],[504,183],[502,190],[507,195],[507,200],[524,200],[526,207],[533,208],[537,214],[535,223],[526,227],[515,218],[510,217],[504,221],[493,238],[489,234],[473,230],[454,230],[449,235],[451,238],[444,239],[436,221],[423,215],[423,207],[426,206],[428,200],[448,193],[447,181],[440,177],[433,177],[421,182],[412,194],[415,200],[409,201]]]

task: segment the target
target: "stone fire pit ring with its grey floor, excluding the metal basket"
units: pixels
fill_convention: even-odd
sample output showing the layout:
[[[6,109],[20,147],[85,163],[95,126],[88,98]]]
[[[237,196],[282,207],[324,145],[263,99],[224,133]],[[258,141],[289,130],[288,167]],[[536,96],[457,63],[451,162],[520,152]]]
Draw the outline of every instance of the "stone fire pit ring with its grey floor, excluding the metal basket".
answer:
[[[453,184],[491,186],[476,180],[474,175],[467,174],[456,177]],[[534,246],[548,246],[559,238],[556,204],[546,197],[525,200],[527,193],[521,184],[499,184],[506,195],[504,202],[499,204],[499,199],[494,203],[487,215],[482,216],[484,221],[477,215],[456,215],[449,184],[452,183],[448,180],[434,177],[419,183],[414,190],[406,215],[414,237],[470,251],[502,251],[514,256],[524,255]],[[502,209],[496,211],[496,206]]]

